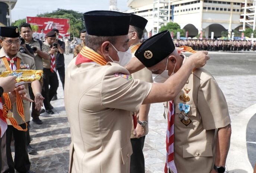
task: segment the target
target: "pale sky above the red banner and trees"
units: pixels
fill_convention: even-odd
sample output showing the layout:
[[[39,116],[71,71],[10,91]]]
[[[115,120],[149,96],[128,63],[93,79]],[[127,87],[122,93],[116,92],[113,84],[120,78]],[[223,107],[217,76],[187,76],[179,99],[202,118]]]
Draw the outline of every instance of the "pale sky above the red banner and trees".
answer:
[[[121,12],[129,9],[127,0],[117,0],[117,7]],[[12,21],[52,12],[58,8],[82,13],[91,10],[108,10],[109,0],[18,0],[12,9]]]

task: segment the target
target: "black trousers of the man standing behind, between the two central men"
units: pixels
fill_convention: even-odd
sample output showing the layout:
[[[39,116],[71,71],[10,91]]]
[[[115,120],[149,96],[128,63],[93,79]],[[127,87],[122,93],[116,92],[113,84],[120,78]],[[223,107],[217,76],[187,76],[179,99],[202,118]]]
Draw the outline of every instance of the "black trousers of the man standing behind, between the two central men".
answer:
[[[131,139],[132,151],[130,173],[145,173],[145,160],[143,155],[145,136]]]

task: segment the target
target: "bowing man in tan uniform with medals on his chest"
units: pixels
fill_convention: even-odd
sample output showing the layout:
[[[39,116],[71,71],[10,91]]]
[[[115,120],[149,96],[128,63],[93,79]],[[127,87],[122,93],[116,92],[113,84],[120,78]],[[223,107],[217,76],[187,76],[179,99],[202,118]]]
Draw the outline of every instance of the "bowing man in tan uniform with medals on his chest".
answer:
[[[163,44],[165,50],[159,51]],[[177,73],[190,59],[182,58],[176,50],[169,55],[162,53],[168,52],[172,45],[170,32],[163,31],[145,41],[135,53],[152,73],[160,74],[154,79],[160,83],[170,79],[170,72]],[[160,62],[148,62],[153,60],[144,58],[145,51],[151,51],[155,55],[152,58]],[[163,70],[169,73],[158,73]],[[174,162],[177,172],[224,173],[231,125],[227,102],[214,77],[203,68],[193,70],[173,101]]]

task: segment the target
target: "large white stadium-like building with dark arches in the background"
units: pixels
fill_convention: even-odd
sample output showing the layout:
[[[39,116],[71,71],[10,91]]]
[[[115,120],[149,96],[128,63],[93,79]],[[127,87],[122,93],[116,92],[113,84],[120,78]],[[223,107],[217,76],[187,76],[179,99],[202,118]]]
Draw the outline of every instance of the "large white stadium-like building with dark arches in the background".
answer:
[[[246,1],[247,7],[254,7],[254,0]],[[245,0],[128,0],[127,6],[131,9],[126,13],[149,21],[146,26],[149,36],[168,22],[178,23],[191,37],[201,31],[206,38],[211,37],[211,32],[219,37],[222,31],[228,31],[231,37],[232,30],[243,29]],[[250,19],[251,23],[252,20],[255,18]],[[252,26],[247,22],[245,27]]]

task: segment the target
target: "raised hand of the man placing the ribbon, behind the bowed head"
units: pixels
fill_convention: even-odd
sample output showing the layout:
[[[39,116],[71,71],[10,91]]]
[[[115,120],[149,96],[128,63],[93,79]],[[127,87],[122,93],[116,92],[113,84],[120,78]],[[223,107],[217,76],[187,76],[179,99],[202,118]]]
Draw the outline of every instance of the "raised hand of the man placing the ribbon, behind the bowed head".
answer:
[[[203,67],[209,59],[208,51],[198,51],[195,54],[190,55],[188,60],[195,66],[195,68],[200,68]]]

